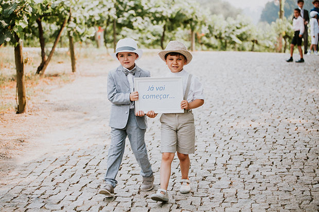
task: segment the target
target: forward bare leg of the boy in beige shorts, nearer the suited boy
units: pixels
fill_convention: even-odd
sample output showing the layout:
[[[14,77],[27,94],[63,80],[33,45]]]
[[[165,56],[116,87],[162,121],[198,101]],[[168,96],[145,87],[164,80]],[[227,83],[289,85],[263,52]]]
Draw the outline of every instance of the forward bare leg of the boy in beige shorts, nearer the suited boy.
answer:
[[[163,152],[161,162],[161,188],[167,190],[169,178],[171,177],[171,164],[174,159],[175,153]]]

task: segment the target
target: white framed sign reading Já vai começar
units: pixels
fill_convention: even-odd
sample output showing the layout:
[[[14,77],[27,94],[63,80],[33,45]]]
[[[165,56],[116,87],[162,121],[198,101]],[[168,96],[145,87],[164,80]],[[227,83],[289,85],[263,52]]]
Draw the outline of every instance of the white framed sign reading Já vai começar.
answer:
[[[182,77],[173,78],[134,78],[134,88],[138,92],[135,110],[145,113],[183,113]]]

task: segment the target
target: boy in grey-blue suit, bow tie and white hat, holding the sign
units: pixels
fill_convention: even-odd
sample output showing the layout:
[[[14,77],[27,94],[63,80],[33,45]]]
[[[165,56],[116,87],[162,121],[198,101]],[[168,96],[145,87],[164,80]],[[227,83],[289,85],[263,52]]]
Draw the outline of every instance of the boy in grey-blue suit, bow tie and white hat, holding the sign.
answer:
[[[149,77],[150,72],[139,68],[135,61],[143,54],[137,48],[132,38],[119,40],[116,52],[111,54],[120,62],[120,66],[109,71],[108,75],[108,99],[112,103],[110,122],[111,145],[108,154],[108,166],[105,172],[105,185],[99,190],[99,194],[114,196],[114,188],[117,184],[115,177],[119,170],[126,137],[129,137],[131,149],[135,159],[141,168],[140,175],[143,177],[141,190],[153,188],[153,171],[148,159],[144,134],[147,128],[147,119],[143,111],[134,112],[134,101],[138,100],[138,92],[134,91],[134,78]],[[154,111],[146,114],[154,118]]]

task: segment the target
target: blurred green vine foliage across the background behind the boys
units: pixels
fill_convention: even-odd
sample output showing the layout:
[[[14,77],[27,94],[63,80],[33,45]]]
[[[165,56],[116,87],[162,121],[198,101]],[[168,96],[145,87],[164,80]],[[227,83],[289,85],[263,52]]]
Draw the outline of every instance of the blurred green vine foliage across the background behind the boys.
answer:
[[[0,0],[0,44],[10,44],[14,29],[6,29],[4,4]],[[22,2],[22,1],[21,1]],[[30,15],[24,22],[15,22],[23,33],[25,47],[40,47],[39,25],[41,17],[46,48],[52,46],[63,19],[72,11],[72,19],[58,47],[68,47],[68,34],[81,47],[107,47],[113,51],[123,37],[134,38],[141,48],[164,48],[170,40],[180,40],[189,48],[194,41],[196,50],[285,51],[277,48],[278,36],[282,43],[293,35],[292,13],[296,0],[286,0],[285,19],[278,21],[279,5],[267,3],[258,24],[253,24],[241,9],[222,0],[28,0]],[[312,8],[305,1],[305,9]],[[8,23],[7,23],[8,24]],[[5,31],[11,30],[11,35]],[[192,39],[194,35],[194,39]],[[11,42],[12,43],[12,42]],[[14,42],[13,42],[14,43]],[[112,49],[112,50],[110,50]],[[287,48],[286,48],[287,49]]]

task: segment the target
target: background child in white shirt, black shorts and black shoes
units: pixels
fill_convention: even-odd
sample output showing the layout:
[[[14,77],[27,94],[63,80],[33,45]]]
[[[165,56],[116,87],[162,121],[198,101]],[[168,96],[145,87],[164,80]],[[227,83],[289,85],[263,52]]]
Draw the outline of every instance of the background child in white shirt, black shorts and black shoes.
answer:
[[[294,9],[294,19],[293,19],[292,26],[295,31],[295,35],[292,38],[292,42],[290,45],[290,59],[287,60],[287,62],[293,62],[293,59],[292,59],[293,49],[294,49],[294,46],[297,44],[298,50],[300,53],[300,60],[296,61],[296,63],[304,63],[305,60],[303,56],[302,43],[303,43],[303,34],[305,32],[305,24],[304,24],[304,18],[300,16],[299,8]]]

